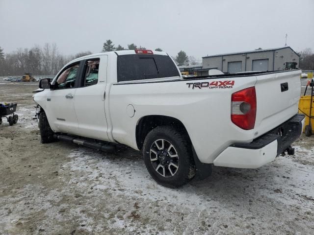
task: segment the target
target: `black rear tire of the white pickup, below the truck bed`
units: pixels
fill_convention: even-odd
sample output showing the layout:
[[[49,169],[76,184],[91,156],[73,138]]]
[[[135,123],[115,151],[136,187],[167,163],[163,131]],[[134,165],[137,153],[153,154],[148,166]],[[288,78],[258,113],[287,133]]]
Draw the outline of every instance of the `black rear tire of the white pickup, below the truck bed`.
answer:
[[[158,152],[160,153],[160,155],[157,154],[154,155],[154,153],[151,153],[151,148],[157,148],[157,145],[155,144],[155,141],[157,140],[164,140],[163,144],[163,147],[165,149],[164,152],[167,153],[169,153],[171,147],[167,148],[166,144],[172,144],[174,148],[172,148],[172,150],[170,151],[177,152],[177,154],[173,154],[173,156],[178,155],[178,157],[176,159],[174,159],[173,157],[172,158],[167,157],[167,159],[170,161],[169,164],[167,164],[168,161],[162,162],[161,155],[164,155],[164,153],[160,153],[161,150],[159,148]],[[161,143],[159,143],[159,145],[161,145]],[[153,160],[154,162],[151,161],[151,154],[153,156],[153,159],[156,158],[158,160]],[[192,144],[186,134],[175,129],[172,126],[158,126],[148,133],[143,145],[143,158],[146,168],[150,175],[152,176],[152,178],[158,184],[165,187],[169,188],[181,187],[188,183],[195,175],[195,164],[193,161]],[[165,160],[165,158],[163,158],[163,160]],[[177,161],[175,163],[176,165],[178,165],[177,168],[176,167],[174,168],[173,165],[170,165],[172,164],[172,161]],[[164,167],[161,168],[161,172],[159,170],[160,168],[159,165],[162,165]],[[172,171],[174,171],[175,169],[175,173],[173,174],[173,172],[169,171],[168,167],[170,168],[172,167]],[[168,176],[166,176],[165,174],[165,169],[167,169],[168,171]],[[161,175],[161,173],[163,175]]]

